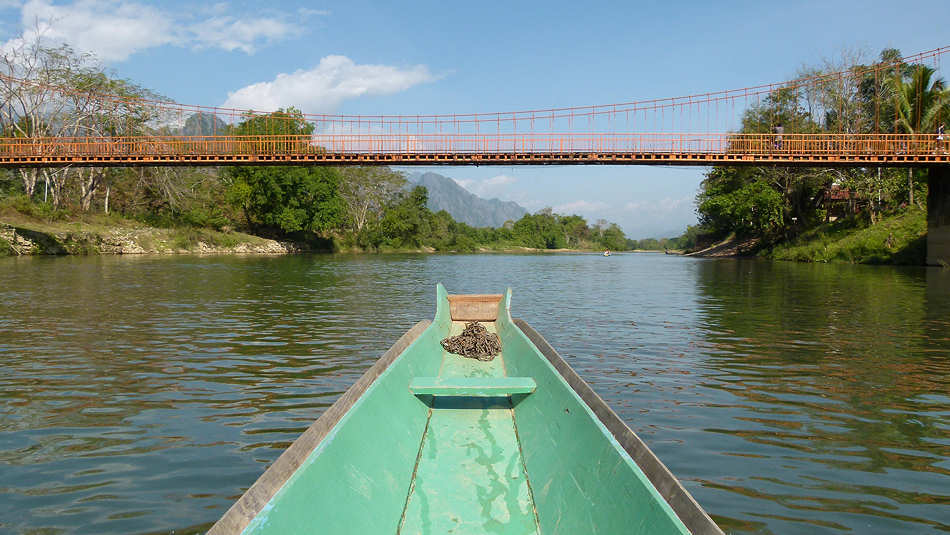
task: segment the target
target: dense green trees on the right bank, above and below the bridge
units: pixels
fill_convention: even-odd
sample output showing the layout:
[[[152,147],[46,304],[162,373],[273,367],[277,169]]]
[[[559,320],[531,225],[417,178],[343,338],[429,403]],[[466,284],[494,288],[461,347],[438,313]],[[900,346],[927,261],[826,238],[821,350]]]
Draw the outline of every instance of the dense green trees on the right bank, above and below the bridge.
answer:
[[[741,132],[770,133],[781,125],[785,133],[934,133],[950,120],[950,91],[933,69],[900,57],[884,50],[876,66],[892,66],[877,71],[856,62],[807,69],[800,74],[857,74],[772,93],[746,110]],[[829,220],[873,224],[885,213],[919,208],[925,190],[922,170],[713,167],[696,197],[700,228],[692,241],[698,234],[701,245],[729,235],[779,243]]]

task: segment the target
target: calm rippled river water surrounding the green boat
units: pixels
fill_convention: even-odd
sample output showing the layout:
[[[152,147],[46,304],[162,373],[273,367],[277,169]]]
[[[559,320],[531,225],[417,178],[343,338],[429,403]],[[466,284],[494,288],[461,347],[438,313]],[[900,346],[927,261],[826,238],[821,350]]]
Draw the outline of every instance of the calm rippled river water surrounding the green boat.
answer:
[[[734,533],[950,531],[950,270],[0,259],[0,532],[207,528],[451,292],[514,288]]]

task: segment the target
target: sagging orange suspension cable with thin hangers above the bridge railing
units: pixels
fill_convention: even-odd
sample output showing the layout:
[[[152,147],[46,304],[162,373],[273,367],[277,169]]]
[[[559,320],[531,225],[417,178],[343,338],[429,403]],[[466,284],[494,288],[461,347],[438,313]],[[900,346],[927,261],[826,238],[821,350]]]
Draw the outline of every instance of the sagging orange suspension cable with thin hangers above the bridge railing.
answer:
[[[173,121],[177,115],[181,120],[198,114],[214,118],[212,127],[218,120],[226,124],[236,124],[253,117],[267,117],[270,121],[303,119],[314,124],[318,131],[332,134],[388,133],[388,134],[432,134],[432,133],[513,133],[513,132],[588,132],[597,131],[640,131],[640,132],[714,132],[729,131],[723,128],[723,120],[735,122],[734,108],[737,103],[747,106],[750,103],[761,104],[763,99],[780,91],[797,89],[815,89],[828,84],[843,85],[874,76],[875,80],[886,79],[901,65],[918,64],[932,61],[935,65],[939,58],[950,52],[950,46],[943,46],[904,56],[887,62],[879,62],[861,68],[851,68],[829,73],[804,76],[779,83],[761,84],[738,89],[727,89],[686,96],[632,100],[613,104],[595,104],[586,106],[567,106],[539,108],[487,113],[445,113],[445,114],[378,114],[352,115],[327,113],[302,113],[298,117],[275,116],[276,110],[267,112],[250,109],[221,108],[181,104],[170,100],[129,98],[108,93],[83,93],[72,88],[45,84],[35,80],[18,78],[9,74],[0,74],[0,82],[9,86],[28,85],[38,89],[55,91],[62,95],[79,96],[85,99],[106,101],[116,107],[138,106],[151,108],[165,121]],[[883,76],[882,76],[883,74]],[[726,109],[727,107],[731,109]],[[623,119],[620,121],[620,119]],[[606,124],[598,121],[606,121]],[[714,122],[720,124],[713,124]],[[586,125],[585,125],[586,123]],[[596,124],[595,124],[596,123]],[[624,128],[618,128],[620,124]],[[545,127],[546,125],[546,127]],[[585,127],[579,128],[579,126]],[[595,126],[598,126],[596,130]],[[633,127],[633,128],[631,128]],[[201,135],[216,135],[214,129],[200,132]]]

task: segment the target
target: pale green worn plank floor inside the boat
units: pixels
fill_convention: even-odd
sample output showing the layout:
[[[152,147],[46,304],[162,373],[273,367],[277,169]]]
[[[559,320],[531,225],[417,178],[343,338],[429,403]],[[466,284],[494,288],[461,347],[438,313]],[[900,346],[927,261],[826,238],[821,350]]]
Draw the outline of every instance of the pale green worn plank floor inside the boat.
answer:
[[[443,351],[440,377],[505,375],[503,354],[480,362]],[[507,398],[435,399],[400,533],[539,533]]]

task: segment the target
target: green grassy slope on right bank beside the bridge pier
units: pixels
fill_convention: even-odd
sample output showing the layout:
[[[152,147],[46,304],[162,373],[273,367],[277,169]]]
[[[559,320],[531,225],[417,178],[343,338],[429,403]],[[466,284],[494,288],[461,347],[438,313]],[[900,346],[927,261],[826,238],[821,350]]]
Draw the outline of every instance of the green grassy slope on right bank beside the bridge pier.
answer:
[[[874,225],[855,218],[826,223],[764,251],[763,256],[798,262],[923,265],[927,212],[914,207]]]

